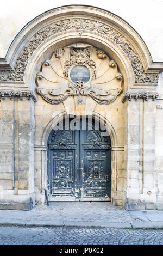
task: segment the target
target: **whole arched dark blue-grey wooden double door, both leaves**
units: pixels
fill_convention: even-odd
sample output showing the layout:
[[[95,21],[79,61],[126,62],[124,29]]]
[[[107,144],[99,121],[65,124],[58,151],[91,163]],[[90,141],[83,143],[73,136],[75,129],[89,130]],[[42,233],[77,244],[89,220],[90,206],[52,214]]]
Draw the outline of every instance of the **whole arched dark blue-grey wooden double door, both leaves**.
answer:
[[[110,136],[89,118],[69,119],[62,128],[48,138],[49,201],[109,201]]]

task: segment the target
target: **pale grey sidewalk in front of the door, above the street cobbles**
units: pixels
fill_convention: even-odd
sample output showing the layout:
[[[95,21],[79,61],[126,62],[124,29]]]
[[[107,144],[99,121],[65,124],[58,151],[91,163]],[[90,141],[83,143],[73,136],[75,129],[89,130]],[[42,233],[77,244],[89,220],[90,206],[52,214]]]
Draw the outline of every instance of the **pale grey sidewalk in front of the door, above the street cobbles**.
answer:
[[[163,211],[126,211],[109,202],[55,202],[31,211],[0,210],[0,225],[163,228]]]

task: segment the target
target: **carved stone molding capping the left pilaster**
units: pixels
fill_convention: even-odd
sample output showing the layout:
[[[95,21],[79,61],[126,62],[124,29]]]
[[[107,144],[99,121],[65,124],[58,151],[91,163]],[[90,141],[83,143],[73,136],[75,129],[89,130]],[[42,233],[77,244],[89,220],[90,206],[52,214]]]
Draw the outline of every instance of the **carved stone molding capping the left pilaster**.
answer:
[[[23,97],[27,97],[28,100],[32,99],[34,102],[37,101],[37,96],[32,90],[0,90],[0,99],[5,100],[5,97],[18,97],[23,100]]]

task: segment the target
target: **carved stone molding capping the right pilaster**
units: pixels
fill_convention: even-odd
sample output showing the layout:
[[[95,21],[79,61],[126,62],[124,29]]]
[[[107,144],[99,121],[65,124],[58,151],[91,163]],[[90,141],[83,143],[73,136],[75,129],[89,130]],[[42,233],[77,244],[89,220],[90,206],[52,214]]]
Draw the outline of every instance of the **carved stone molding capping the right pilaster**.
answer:
[[[156,99],[159,96],[157,92],[131,92],[127,91],[122,99],[122,103],[126,100],[135,99],[137,101],[138,98],[148,100],[151,98],[152,100]]]

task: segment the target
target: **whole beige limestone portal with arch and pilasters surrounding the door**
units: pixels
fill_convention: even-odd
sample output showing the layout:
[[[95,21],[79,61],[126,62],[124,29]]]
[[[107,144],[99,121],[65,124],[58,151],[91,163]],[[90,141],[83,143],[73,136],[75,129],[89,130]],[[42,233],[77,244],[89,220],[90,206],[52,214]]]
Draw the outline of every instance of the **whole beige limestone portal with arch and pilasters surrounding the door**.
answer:
[[[73,81],[84,66],[89,78]],[[111,203],[163,209],[163,63],[120,17],[52,9],[29,22],[0,61],[0,209],[45,204],[48,137],[91,115],[111,139]]]

